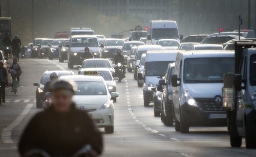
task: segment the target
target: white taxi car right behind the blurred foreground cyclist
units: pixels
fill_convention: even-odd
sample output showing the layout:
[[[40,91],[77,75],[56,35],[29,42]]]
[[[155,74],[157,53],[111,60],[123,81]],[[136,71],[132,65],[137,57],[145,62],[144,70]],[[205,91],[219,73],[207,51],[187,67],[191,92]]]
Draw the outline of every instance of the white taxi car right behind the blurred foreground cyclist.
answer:
[[[119,94],[108,92],[103,77],[74,75],[61,76],[59,80],[75,82],[77,90],[73,101],[76,108],[88,112],[95,124],[104,127],[106,133],[114,133],[114,104],[111,98]]]

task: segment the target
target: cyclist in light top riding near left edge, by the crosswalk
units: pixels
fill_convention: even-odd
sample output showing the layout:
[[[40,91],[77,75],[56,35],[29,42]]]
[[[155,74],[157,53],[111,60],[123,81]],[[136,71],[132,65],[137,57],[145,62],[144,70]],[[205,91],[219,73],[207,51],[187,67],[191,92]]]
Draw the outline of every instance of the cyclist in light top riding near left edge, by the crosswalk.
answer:
[[[16,58],[13,59],[13,63],[9,69],[9,72],[11,72],[12,76],[12,87],[13,87],[13,81],[15,77],[17,77],[17,82],[19,86],[19,76],[22,74],[22,67],[20,67],[20,64],[18,64],[18,60]],[[13,92],[13,88],[12,88]]]

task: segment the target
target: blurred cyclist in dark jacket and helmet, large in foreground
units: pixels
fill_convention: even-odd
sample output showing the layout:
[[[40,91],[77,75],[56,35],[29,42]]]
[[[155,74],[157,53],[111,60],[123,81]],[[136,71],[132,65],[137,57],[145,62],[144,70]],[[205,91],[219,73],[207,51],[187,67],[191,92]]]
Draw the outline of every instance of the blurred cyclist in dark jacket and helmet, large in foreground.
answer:
[[[85,145],[91,146],[91,156],[102,153],[101,133],[87,112],[77,109],[72,101],[76,88],[74,82],[57,81],[52,85],[52,105],[26,126],[18,143],[20,156],[35,149],[51,156],[71,156]]]

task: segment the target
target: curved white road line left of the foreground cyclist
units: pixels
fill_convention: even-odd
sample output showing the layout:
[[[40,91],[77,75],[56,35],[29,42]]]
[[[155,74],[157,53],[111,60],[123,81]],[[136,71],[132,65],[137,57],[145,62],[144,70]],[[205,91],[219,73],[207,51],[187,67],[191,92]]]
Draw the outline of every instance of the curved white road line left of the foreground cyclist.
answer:
[[[12,129],[17,126],[25,116],[29,113],[30,109],[33,107],[33,103],[27,104],[26,108],[23,112],[16,117],[16,119],[7,127],[5,127],[2,131],[1,139],[3,143],[14,143],[12,140]]]

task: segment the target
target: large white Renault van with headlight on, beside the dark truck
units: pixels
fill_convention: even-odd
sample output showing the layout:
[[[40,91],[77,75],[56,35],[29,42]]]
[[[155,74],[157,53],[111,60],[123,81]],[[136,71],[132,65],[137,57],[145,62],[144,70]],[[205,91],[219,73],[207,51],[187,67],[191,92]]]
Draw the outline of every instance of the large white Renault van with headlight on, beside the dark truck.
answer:
[[[234,52],[200,50],[178,53],[171,76],[175,129],[227,126],[222,107],[223,74],[234,71]]]

